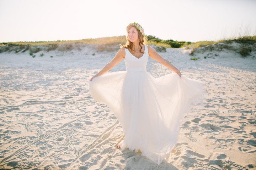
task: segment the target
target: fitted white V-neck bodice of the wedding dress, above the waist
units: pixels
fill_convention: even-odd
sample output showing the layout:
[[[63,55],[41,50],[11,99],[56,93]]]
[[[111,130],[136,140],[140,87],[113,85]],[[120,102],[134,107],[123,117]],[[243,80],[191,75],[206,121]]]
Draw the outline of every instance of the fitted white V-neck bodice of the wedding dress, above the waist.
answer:
[[[126,64],[126,71],[127,72],[142,72],[146,71],[146,65],[148,63],[148,46],[145,45],[145,51],[142,57],[137,58],[130,51],[126,48],[124,62]]]

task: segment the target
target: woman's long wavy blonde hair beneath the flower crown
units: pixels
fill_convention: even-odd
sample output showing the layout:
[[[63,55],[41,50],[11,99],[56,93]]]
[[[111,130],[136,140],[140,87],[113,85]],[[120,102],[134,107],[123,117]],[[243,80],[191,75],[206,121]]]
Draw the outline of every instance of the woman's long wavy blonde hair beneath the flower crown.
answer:
[[[140,26],[140,24],[138,24],[138,25]],[[128,30],[130,28],[132,28],[132,27],[134,27],[134,26],[130,25],[129,27],[127,27],[126,28],[126,32],[128,32]],[[136,28],[136,27],[134,27],[134,28]],[[143,52],[143,51],[141,51],[142,50],[142,45],[146,44],[146,42],[148,41],[148,38],[147,38],[146,35],[143,35],[138,29],[137,29],[137,31],[138,31],[138,39],[139,39],[140,52]],[[130,51],[132,51],[134,53],[135,51],[133,50],[133,46],[134,46],[133,43],[130,42],[129,39],[128,39],[128,34],[126,34],[126,44],[125,45],[119,44],[119,47],[121,49],[122,48],[126,48],[126,49],[128,49],[128,50],[130,50]],[[145,52],[145,50],[144,50],[144,52]]]

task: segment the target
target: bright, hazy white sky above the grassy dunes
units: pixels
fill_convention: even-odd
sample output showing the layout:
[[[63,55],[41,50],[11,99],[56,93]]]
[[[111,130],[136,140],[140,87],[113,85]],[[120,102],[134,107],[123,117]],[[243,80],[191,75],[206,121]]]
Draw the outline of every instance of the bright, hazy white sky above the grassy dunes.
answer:
[[[256,35],[256,0],[0,0],[0,42],[126,35],[138,22],[163,40]]]

